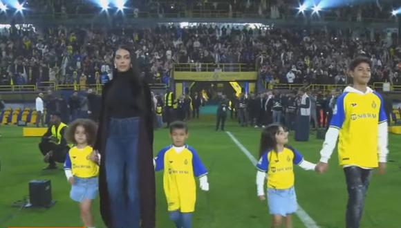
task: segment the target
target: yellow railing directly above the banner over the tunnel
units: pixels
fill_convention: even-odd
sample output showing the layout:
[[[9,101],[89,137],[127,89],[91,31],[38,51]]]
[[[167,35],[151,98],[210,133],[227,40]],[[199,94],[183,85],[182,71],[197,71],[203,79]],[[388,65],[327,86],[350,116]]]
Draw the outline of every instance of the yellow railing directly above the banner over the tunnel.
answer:
[[[249,64],[174,64],[174,71],[198,71],[198,72],[250,72],[256,71],[254,65]]]

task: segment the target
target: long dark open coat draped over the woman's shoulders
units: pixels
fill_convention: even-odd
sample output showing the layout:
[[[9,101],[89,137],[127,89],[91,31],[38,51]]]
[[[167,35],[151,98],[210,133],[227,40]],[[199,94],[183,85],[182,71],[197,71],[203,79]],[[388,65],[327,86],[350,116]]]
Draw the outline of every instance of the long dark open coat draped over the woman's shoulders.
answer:
[[[115,74],[114,74],[115,75]],[[155,174],[153,169],[153,106],[149,86],[138,75],[130,80],[135,97],[140,96],[140,106],[144,107],[144,114],[141,116],[140,133],[138,138],[138,164],[139,171],[139,191],[140,191],[140,218],[142,228],[153,228],[155,224],[156,207],[156,187]],[[104,224],[113,228],[111,223],[111,213],[109,206],[109,193],[106,184],[106,170],[104,161],[107,159],[104,153],[108,136],[110,112],[105,108],[106,95],[108,94],[113,80],[107,83],[102,91],[102,107],[100,112],[99,129],[94,149],[100,151],[102,159],[100,162],[99,191],[100,191],[100,213]],[[139,91],[138,91],[139,90]]]

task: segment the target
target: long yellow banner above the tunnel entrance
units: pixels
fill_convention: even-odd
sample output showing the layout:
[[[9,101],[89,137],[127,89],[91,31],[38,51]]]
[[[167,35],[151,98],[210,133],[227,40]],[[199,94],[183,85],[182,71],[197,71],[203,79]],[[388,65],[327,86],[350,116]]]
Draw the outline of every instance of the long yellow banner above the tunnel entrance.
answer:
[[[174,79],[185,81],[256,81],[257,72],[174,71]]]

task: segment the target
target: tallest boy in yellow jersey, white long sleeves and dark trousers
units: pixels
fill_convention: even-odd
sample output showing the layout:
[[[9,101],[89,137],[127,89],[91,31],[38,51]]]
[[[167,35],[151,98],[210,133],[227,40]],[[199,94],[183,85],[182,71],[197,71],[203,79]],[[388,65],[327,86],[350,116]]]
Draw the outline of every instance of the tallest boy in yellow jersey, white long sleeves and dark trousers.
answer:
[[[337,99],[316,169],[319,173],[328,169],[338,137],[339,164],[344,169],[348,189],[346,227],[357,228],[372,170],[379,167],[379,172],[384,173],[389,151],[383,99],[367,86],[371,79],[371,61],[357,57],[351,61],[349,70],[353,87],[345,88]]]

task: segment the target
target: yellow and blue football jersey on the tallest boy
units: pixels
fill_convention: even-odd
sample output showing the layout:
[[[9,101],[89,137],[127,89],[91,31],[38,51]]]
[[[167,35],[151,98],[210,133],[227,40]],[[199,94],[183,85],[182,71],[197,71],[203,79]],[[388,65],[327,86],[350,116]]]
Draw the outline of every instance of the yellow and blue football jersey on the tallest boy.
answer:
[[[375,168],[378,166],[378,124],[387,121],[378,93],[348,93],[337,99],[330,126],[339,129],[339,164]]]

